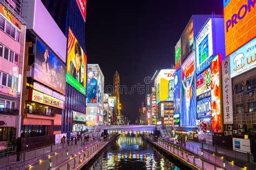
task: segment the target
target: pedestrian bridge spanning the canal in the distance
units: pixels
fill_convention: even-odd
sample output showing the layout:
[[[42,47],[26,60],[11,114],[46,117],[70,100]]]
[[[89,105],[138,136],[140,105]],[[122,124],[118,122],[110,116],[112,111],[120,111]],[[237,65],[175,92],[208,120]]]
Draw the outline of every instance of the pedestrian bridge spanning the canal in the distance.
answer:
[[[107,133],[144,133],[144,132],[153,132],[156,129],[155,125],[104,125],[104,126],[95,126],[93,136],[100,137],[103,136],[102,133],[104,130],[107,130]]]

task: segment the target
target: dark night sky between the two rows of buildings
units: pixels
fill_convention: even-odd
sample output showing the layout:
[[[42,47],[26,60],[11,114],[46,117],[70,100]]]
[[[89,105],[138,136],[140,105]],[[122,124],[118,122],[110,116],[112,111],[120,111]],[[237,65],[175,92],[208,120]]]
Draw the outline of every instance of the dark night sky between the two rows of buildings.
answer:
[[[223,14],[223,0],[87,0],[86,52],[105,87],[118,70],[128,89],[174,64],[174,46],[193,14]],[[122,113],[134,121],[145,94],[121,94]]]

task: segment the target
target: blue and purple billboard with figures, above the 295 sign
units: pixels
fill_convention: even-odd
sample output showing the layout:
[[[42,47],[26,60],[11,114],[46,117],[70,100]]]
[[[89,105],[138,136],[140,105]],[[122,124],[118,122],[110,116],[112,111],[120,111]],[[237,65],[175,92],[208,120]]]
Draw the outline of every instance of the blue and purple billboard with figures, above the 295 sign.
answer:
[[[33,79],[65,94],[66,66],[38,39],[36,39]]]

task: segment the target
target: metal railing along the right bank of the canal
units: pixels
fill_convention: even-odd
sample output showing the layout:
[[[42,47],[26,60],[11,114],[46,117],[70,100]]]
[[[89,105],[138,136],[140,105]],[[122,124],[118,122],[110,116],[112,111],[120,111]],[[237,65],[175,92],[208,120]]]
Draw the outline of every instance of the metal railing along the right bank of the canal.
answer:
[[[146,137],[146,136],[145,136]],[[179,158],[182,158],[188,164],[191,164],[200,169],[225,169],[225,159],[219,158],[215,154],[210,154],[204,152],[199,147],[189,146],[188,149],[190,152],[186,151],[186,148],[171,144],[168,141],[163,139],[155,139],[152,136],[146,137],[148,140],[151,140],[154,144],[163,147],[165,150],[171,152],[172,154],[177,155]]]

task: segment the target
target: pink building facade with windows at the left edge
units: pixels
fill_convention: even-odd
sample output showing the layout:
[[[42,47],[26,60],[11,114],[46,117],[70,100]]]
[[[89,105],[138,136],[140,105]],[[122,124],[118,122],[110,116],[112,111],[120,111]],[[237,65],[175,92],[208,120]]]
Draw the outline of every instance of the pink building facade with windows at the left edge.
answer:
[[[21,137],[21,92],[26,25],[22,1],[0,1],[0,150]]]

